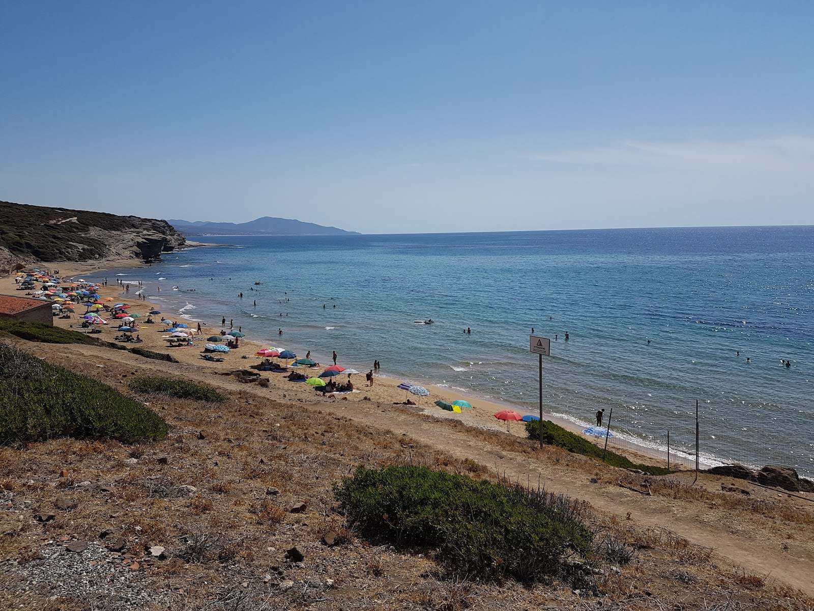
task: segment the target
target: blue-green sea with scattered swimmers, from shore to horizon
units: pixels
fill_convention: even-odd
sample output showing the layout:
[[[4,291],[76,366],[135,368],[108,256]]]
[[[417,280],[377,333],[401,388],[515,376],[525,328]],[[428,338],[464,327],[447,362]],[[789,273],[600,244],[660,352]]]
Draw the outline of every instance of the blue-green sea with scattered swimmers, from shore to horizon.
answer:
[[[698,399],[705,455],[814,475],[812,226],[205,240],[230,245],[105,275],[147,280],[165,314],[530,411],[534,327],[549,411],[613,407],[622,433],[689,447]]]

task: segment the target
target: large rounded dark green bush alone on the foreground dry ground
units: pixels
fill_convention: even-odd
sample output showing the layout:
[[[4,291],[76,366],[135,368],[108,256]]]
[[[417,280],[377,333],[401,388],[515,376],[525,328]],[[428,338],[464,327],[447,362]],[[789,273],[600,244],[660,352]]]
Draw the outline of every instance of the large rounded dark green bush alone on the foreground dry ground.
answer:
[[[462,574],[535,582],[556,574],[567,551],[587,554],[592,540],[567,498],[426,467],[359,467],[334,493],[371,538],[437,550]]]

